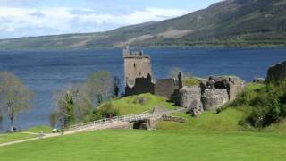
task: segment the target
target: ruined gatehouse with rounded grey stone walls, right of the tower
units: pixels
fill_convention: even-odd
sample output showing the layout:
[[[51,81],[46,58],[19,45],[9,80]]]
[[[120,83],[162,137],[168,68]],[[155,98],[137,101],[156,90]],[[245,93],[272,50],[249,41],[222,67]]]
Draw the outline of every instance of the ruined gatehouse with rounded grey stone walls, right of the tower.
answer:
[[[244,86],[244,80],[236,76],[210,76],[208,80],[200,80],[199,86],[180,89],[181,106],[189,108],[194,115],[215,110],[234,100]]]

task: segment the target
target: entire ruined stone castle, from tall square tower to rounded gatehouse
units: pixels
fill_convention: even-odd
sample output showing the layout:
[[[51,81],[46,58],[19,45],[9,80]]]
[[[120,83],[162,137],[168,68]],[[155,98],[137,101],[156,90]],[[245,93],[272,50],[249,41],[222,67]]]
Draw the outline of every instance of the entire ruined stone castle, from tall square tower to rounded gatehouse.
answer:
[[[150,56],[144,55],[143,51],[130,52],[129,47],[126,47],[123,57],[125,96],[151,93],[166,97],[178,106],[189,108],[193,115],[223,106],[244,89],[244,80],[236,76],[210,76],[208,80],[200,79],[200,84],[193,87],[184,86],[181,72],[178,78],[155,81]]]

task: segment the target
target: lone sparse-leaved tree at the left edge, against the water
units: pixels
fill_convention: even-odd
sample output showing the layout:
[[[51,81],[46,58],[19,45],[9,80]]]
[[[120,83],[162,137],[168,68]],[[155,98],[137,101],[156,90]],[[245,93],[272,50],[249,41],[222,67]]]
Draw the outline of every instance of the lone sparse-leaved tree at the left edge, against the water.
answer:
[[[12,72],[0,72],[0,113],[10,119],[10,131],[21,111],[31,108],[33,92]]]

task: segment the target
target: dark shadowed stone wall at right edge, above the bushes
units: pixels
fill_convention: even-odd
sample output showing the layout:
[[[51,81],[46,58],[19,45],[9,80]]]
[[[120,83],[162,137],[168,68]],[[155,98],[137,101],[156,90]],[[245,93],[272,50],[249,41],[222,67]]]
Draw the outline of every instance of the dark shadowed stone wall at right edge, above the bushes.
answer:
[[[266,82],[279,83],[282,80],[286,80],[286,61],[270,67],[267,71]]]

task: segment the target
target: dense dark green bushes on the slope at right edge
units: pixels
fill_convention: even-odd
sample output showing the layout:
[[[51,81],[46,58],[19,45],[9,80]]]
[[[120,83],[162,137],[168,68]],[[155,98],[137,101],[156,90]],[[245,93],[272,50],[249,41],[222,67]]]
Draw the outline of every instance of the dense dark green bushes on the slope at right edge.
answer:
[[[216,110],[237,107],[244,111],[240,125],[264,128],[286,117],[286,82],[273,84],[250,83],[233,102]]]

